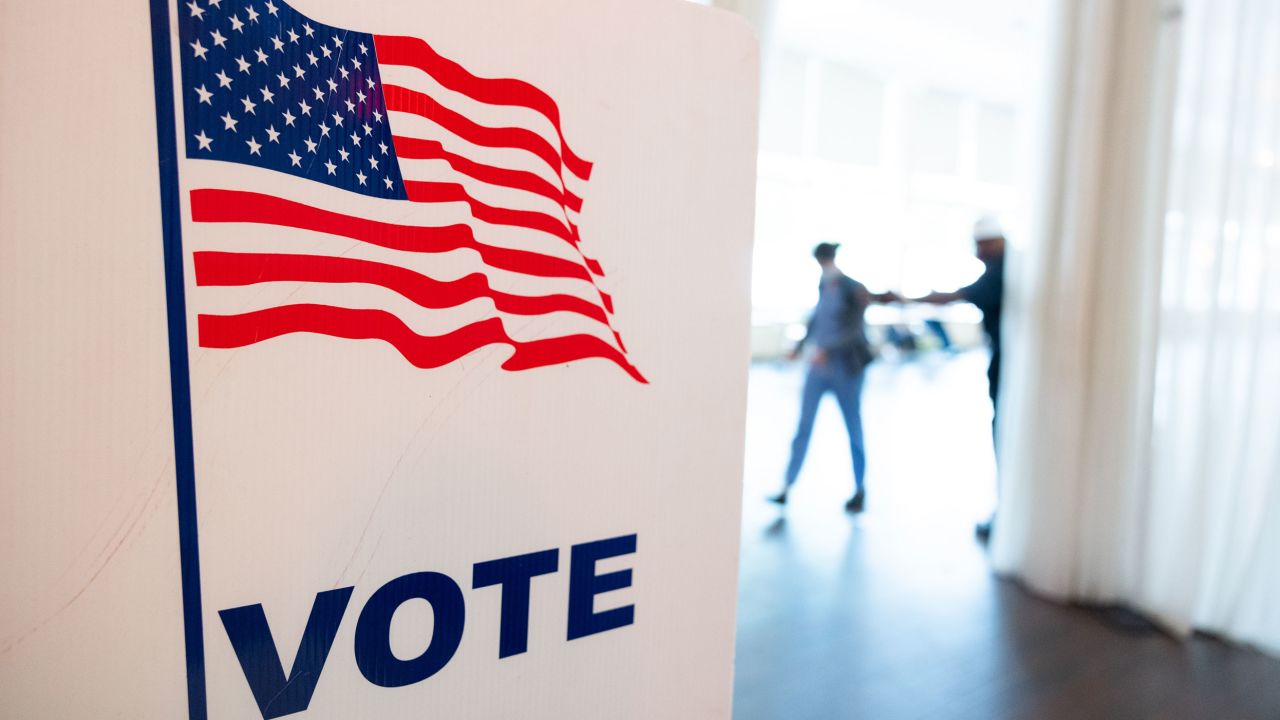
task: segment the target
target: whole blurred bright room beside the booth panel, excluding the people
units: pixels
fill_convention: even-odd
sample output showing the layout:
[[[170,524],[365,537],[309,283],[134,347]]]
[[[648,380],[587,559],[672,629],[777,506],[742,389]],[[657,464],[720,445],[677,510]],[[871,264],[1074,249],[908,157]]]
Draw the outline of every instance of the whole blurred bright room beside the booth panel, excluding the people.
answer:
[[[1280,717],[1280,3],[703,4],[763,49],[735,715]],[[814,246],[946,300],[975,232],[995,442],[983,311],[874,304],[865,506],[831,397],[768,502]]]

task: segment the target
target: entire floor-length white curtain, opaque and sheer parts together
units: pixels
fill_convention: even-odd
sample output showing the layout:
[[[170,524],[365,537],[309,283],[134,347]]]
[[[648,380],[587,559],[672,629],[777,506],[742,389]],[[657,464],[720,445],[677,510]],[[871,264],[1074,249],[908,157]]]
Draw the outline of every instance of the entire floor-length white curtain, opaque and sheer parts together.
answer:
[[[1059,12],[993,562],[1280,653],[1280,3]]]

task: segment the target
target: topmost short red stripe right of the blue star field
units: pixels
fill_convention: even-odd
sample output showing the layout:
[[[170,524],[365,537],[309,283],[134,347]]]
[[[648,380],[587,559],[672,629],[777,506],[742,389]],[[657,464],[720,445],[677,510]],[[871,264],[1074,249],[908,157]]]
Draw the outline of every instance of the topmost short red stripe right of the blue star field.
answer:
[[[529,108],[541,113],[556,128],[559,137],[559,154],[570,172],[582,179],[590,179],[591,163],[579,158],[564,141],[561,127],[559,106],[549,95],[538,87],[518,79],[481,78],[466,68],[442,56],[430,45],[416,37],[374,36],[374,49],[378,61],[388,65],[411,65],[435,78],[449,90],[461,92],[472,100],[489,105],[512,105]],[[388,109],[390,99],[388,97]],[[558,164],[554,165],[557,169]]]

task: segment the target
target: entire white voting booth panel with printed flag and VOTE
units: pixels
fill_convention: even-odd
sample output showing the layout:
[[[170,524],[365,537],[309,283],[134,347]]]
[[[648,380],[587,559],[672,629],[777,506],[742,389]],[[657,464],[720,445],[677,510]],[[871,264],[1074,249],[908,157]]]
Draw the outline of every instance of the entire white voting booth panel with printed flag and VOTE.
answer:
[[[740,20],[3,13],[0,716],[730,715]]]

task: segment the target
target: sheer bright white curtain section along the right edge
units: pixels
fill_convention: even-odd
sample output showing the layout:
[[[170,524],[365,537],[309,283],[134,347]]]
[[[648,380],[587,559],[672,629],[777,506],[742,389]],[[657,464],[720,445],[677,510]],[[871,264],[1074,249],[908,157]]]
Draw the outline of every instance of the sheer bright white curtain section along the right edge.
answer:
[[[1280,653],[1280,4],[1187,4],[1139,600]]]

